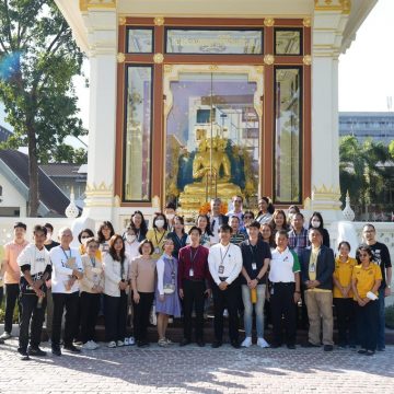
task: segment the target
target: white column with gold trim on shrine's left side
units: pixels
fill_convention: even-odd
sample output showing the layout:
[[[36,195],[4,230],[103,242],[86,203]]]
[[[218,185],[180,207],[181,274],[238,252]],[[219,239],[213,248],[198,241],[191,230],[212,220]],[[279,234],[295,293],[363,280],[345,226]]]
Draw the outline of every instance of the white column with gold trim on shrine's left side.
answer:
[[[116,9],[83,14],[90,46],[88,184],[83,218],[113,220],[116,136]]]

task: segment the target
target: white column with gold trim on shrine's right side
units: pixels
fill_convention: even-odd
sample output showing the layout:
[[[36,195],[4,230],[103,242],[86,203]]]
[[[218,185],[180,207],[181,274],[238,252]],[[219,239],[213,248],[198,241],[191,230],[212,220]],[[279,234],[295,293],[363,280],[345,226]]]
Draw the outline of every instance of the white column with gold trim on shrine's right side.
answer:
[[[327,221],[341,218],[338,55],[347,18],[340,11],[315,11],[313,24],[311,209]]]

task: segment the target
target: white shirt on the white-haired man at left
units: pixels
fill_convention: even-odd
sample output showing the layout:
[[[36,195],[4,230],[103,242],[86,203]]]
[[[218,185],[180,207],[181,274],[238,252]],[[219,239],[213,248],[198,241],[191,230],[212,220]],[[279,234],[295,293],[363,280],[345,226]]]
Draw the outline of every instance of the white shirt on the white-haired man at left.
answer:
[[[51,291],[53,293],[71,294],[79,291],[79,281],[76,280],[70,290],[66,290],[65,285],[72,275],[72,269],[67,267],[67,260],[70,257],[76,258],[76,267],[80,273],[83,273],[81,255],[78,248],[70,247],[65,251],[60,245],[53,247],[49,252],[50,260],[53,263],[51,274]]]

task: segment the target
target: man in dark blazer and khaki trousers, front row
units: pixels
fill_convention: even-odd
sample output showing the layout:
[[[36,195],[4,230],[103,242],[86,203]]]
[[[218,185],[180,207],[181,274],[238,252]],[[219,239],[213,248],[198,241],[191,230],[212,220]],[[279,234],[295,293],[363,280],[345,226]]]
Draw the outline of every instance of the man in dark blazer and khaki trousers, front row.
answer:
[[[333,341],[333,251],[323,245],[320,229],[310,229],[311,246],[301,253],[301,275],[305,286],[305,303],[310,328],[306,347],[321,346],[321,316],[323,318],[323,345],[325,351],[334,349]]]

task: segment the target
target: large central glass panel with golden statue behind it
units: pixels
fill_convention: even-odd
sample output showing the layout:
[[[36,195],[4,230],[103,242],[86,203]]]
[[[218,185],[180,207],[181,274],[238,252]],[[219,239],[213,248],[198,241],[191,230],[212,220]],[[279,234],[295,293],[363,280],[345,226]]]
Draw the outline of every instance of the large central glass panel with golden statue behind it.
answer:
[[[262,76],[263,78],[263,76]],[[256,82],[242,73],[181,73],[170,84],[166,196],[196,211],[212,197],[229,201],[258,189]],[[260,95],[260,92],[258,93]]]

